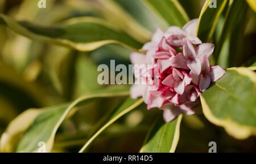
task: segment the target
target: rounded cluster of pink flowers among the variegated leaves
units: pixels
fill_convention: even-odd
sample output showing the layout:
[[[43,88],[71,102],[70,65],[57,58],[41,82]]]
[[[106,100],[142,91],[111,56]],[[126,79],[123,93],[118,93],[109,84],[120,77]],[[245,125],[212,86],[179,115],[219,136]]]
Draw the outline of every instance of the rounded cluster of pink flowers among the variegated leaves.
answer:
[[[220,66],[210,66],[208,58],[214,45],[202,43],[195,36],[197,21],[191,20],[183,28],[170,27],[166,32],[157,29],[142,48],[146,55],[130,55],[131,63],[147,65],[142,74],[134,74],[146,85],[135,83],[131,97],[142,96],[147,109],[162,109],[166,122],[180,113],[195,114],[200,94],[225,74]]]

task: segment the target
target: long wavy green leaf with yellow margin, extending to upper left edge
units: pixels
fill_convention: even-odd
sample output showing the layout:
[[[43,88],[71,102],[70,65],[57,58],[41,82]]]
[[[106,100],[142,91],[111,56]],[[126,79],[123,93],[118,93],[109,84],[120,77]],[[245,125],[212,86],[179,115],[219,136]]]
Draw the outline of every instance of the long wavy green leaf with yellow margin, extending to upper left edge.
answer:
[[[16,33],[33,40],[68,46],[79,51],[91,51],[106,44],[118,44],[129,49],[139,49],[142,44],[97,18],[73,18],[63,26],[43,27],[24,21],[16,21],[1,15],[7,25]]]

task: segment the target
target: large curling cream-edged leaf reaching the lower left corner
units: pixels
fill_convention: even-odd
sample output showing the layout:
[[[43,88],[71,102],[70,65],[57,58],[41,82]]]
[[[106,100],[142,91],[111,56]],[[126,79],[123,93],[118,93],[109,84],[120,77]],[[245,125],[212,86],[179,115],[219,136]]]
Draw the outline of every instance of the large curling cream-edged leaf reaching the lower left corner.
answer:
[[[37,152],[38,143],[46,143],[46,150],[50,152],[57,129],[68,116],[73,114],[75,107],[97,100],[97,98],[128,96],[129,88],[117,86],[86,94],[72,103],[48,107],[40,110],[27,110],[14,119],[1,137],[1,152]],[[16,143],[16,137],[19,139]]]

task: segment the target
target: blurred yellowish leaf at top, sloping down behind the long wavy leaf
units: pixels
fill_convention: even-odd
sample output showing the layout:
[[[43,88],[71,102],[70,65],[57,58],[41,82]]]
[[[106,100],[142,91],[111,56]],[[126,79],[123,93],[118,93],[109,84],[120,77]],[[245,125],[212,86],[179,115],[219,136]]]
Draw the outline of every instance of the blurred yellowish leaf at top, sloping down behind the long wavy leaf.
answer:
[[[114,27],[121,29],[139,42],[150,40],[151,33],[124,10],[114,0],[68,1],[68,5],[76,7],[80,12],[90,12],[99,18],[107,20]]]

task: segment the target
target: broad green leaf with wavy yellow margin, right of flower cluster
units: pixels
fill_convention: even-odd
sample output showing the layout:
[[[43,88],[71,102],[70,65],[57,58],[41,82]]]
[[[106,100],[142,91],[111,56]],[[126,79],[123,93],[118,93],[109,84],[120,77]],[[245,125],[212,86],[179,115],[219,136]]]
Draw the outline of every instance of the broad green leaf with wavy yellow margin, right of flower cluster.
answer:
[[[256,74],[246,67],[229,68],[200,96],[203,113],[237,139],[256,134]]]

